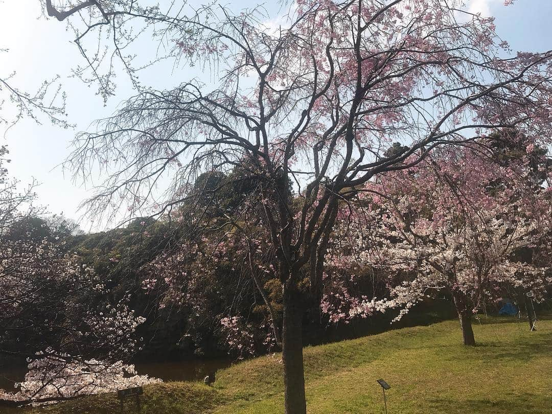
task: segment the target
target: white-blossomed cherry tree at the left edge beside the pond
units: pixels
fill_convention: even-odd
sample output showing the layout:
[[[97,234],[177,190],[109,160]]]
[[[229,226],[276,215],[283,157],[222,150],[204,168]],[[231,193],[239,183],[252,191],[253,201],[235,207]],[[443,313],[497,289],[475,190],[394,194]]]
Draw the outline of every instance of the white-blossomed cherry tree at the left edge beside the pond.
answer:
[[[0,354],[29,362],[20,390],[0,390],[0,404],[147,383],[121,362],[134,352],[144,318],[127,298],[110,300],[105,281],[68,251],[59,236],[65,225],[35,216],[42,210],[33,208],[33,186],[19,192],[4,167],[6,147],[0,153]]]

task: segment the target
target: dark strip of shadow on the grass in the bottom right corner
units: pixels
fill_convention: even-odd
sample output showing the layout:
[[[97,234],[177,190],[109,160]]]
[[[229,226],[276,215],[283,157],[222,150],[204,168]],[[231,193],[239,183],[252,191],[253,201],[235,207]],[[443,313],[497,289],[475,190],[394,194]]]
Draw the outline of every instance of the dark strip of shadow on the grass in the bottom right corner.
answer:
[[[467,400],[428,399],[431,412],[455,413],[549,413],[552,397],[535,394],[517,394],[511,400]]]

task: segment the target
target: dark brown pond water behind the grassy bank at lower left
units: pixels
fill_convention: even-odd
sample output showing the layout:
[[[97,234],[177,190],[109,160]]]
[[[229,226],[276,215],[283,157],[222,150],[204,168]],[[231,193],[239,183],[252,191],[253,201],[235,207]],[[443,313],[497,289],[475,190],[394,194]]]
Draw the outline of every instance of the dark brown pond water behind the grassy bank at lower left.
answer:
[[[203,380],[211,371],[230,367],[230,359],[195,359],[176,362],[135,363],[139,374],[147,374],[163,381]],[[1,367],[0,389],[13,390],[13,385],[24,379],[26,367]]]

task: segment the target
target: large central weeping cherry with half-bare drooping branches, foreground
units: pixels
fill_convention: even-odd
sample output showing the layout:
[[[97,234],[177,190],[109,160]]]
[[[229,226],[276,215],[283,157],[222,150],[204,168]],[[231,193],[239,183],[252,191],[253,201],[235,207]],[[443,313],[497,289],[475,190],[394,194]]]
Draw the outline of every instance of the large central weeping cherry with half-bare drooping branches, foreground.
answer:
[[[99,20],[81,35],[111,24],[117,40],[129,18],[143,15],[132,12],[136,3],[102,12],[107,2],[81,2],[59,17],[71,20],[86,5]],[[283,291],[285,411],[305,413],[302,316],[321,296],[340,203],[382,173],[488,130],[552,136],[552,55],[511,55],[492,18],[456,0],[294,4],[278,28],[261,9],[148,15],[143,22],[162,34],[168,55],[203,65],[214,82],[137,88],[118,113],[77,136],[67,166],[76,177],[107,173],[88,206],[108,216],[121,207],[164,214],[190,196],[202,172],[227,172],[243,160],[258,169]],[[384,156],[394,141],[407,147]]]

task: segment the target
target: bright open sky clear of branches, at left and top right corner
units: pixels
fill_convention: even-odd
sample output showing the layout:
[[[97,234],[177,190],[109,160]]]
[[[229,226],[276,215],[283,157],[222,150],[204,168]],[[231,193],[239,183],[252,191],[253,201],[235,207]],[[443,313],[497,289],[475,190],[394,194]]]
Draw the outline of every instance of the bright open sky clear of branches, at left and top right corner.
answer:
[[[167,3],[162,0],[161,4]],[[252,7],[256,2],[233,3],[233,7]],[[272,2],[274,4],[274,2]],[[274,6],[267,6],[274,9]],[[471,12],[495,16],[498,35],[507,40],[514,51],[545,51],[552,49],[552,0],[517,0],[505,7],[504,0],[471,0]],[[278,10],[274,9],[274,12]],[[275,14],[273,19],[277,18]],[[61,77],[67,92],[68,121],[75,128],[61,129],[48,123],[36,124],[23,119],[11,128],[3,144],[10,150],[9,173],[22,184],[35,178],[38,203],[50,213],[61,214],[81,223],[85,231],[102,230],[83,216],[79,204],[92,195],[91,188],[73,182],[71,174],[59,166],[70,152],[76,132],[87,130],[95,119],[112,114],[120,101],[131,95],[132,89],[123,76],[119,79],[118,95],[104,106],[95,89],[71,77],[71,69],[83,64],[77,48],[71,43],[72,33],[63,23],[41,17],[39,0],[0,0],[0,77],[17,72],[12,82],[20,89],[35,91],[44,79]],[[144,45],[144,48],[151,45]],[[142,80],[157,88],[169,87],[197,77],[197,70],[173,71],[172,66],[157,67],[142,75]],[[0,105],[9,105],[1,102]],[[4,109],[4,108],[2,108]],[[92,177],[99,184],[101,177]],[[105,224],[104,224],[105,225]],[[107,224],[108,226],[113,224]]]

